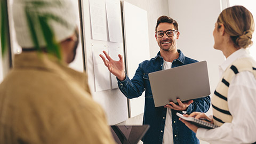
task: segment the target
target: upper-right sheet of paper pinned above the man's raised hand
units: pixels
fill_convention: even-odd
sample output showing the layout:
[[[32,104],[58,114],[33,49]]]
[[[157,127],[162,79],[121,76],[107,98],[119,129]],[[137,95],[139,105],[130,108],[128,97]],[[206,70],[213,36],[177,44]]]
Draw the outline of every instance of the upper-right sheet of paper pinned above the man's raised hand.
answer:
[[[108,34],[110,42],[122,43],[121,7],[119,0],[106,0]]]

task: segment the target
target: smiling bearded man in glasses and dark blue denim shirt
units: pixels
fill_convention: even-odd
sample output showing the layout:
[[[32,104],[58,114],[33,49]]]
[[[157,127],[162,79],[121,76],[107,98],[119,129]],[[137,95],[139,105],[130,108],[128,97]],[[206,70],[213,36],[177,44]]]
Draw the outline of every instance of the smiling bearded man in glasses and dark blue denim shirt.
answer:
[[[206,112],[210,108],[210,96],[186,102],[177,99],[177,105],[170,102],[164,107],[155,107],[148,78],[148,74],[154,71],[187,65],[197,60],[185,57],[181,50],[177,50],[177,39],[180,36],[177,21],[161,16],[157,19],[155,30],[160,51],[155,58],[141,62],[131,80],[124,72],[122,55],[118,55],[119,61],[111,59],[105,51],[107,60],[103,55],[100,57],[109,71],[117,77],[119,89],[125,97],[137,98],[146,91],[143,124],[149,124],[150,128],[142,139],[144,143],[199,143],[195,133],[180,122],[175,114],[177,111]]]

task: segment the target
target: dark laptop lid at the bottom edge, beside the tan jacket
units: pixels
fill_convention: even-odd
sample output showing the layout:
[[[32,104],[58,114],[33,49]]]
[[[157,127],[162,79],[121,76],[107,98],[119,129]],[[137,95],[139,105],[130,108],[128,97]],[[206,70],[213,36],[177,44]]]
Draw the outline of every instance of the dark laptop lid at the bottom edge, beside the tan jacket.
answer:
[[[111,125],[111,133],[118,144],[138,143],[149,125]]]

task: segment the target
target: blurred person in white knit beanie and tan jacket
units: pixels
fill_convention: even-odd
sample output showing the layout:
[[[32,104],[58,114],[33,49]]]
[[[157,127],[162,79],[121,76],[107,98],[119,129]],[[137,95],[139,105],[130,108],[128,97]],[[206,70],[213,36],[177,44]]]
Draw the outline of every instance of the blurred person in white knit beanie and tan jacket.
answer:
[[[47,21],[62,59],[47,52],[42,35],[37,35],[42,52],[36,51],[28,9],[33,17],[53,15],[67,22],[68,27]],[[104,111],[91,97],[86,74],[67,65],[78,44],[76,19],[71,0],[14,0],[14,27],[23,52],[15,55],[13,69],[0,84],[0,143],[115,143]],[[41,30],[38,25],[33,21],[36,32]]]

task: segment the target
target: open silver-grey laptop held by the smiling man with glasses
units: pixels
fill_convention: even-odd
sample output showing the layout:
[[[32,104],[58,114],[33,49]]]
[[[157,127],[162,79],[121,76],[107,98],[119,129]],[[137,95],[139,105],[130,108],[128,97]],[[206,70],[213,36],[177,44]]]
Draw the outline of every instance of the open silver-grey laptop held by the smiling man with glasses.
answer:
[[[155,107],[210,95],[206,61],[149,73]]]

